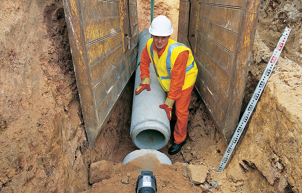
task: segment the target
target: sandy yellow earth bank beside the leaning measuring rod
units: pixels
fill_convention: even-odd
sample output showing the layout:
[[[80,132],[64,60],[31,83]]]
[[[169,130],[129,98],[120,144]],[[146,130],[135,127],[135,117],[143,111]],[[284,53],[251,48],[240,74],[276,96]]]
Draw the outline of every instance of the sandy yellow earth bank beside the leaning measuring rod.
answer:
[[[268,62],[268,47],[256,38],[250,67],[251,85]],[[264,54],[263,50],[267,51]],[[262,52],[262,54],[261,54]],[[280,57],[243,131],[225,172],[234,181],[245,180],[245,189],[257,192],[302,192],[302,68]],[[247,90],[249,90],[247,86]],[[256,85],[252,86],[255,88]],[[251,95],[247,94],[247,95]],[[258,178],[258,184],[249,179]]]

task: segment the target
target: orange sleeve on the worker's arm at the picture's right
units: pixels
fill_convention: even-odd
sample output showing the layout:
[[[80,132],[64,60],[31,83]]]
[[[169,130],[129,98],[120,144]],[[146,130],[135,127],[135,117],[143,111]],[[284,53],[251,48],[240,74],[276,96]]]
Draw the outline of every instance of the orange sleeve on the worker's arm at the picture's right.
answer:
[[[185,84],[186,67],[189,58],[189,52],[183,51],[178,54],[174,67],[171,70],[171,83],[168,97],[176,100],[180,97],[181,90]]]

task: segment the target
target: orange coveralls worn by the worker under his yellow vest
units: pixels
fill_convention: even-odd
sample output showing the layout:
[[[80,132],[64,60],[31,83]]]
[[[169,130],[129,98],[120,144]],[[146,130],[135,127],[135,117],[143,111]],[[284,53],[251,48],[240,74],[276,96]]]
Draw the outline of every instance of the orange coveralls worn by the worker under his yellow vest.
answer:
[[[153,44],[153,49],[157,51],[157,55],[160,58],[165,51],[168,44],[165,45],[160,51],[157,51],[155,44]],[[176,125],[174,128],[174,143],[180,144],[183,142],[187,136],[187,125],[189,116],[189,104],[191,100],[191,92],[193,90],[194,84],[189,88],[182,90],[185,82],[186,64],[188,61],[189,52],[183,51],[179,53],[175,60],[174,67],[171,70],[171,82],[170,91],[168,97],[175,100],[175,113],[176,113]],[[147,45],[141,53],[141,80],[146,77],[150,77],[150,66],[151,60],[147,51]],[[174,110],[174,109],[173,109]],[[173,112],[172,112],[173,113]],[[173,115],[172,115],[173,117]]]

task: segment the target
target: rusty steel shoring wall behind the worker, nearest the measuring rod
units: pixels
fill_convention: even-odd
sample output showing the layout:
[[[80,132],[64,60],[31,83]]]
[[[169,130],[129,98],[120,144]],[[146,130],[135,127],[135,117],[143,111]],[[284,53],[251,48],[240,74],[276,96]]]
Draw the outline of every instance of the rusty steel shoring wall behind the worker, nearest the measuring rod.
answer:
[[[260,3],[180,1],[178,39],[192,49],[199,69],[195,87],[226,143],[239,120]]]

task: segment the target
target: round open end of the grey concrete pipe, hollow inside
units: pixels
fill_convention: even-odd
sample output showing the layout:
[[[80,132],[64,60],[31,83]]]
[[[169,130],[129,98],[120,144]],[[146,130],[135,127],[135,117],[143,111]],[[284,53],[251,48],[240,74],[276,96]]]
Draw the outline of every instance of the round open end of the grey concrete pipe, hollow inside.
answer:
[[[166,138],[160,131],[146,129],[137,134],[135,144],[141,149],[161,149],[166,144]]]

